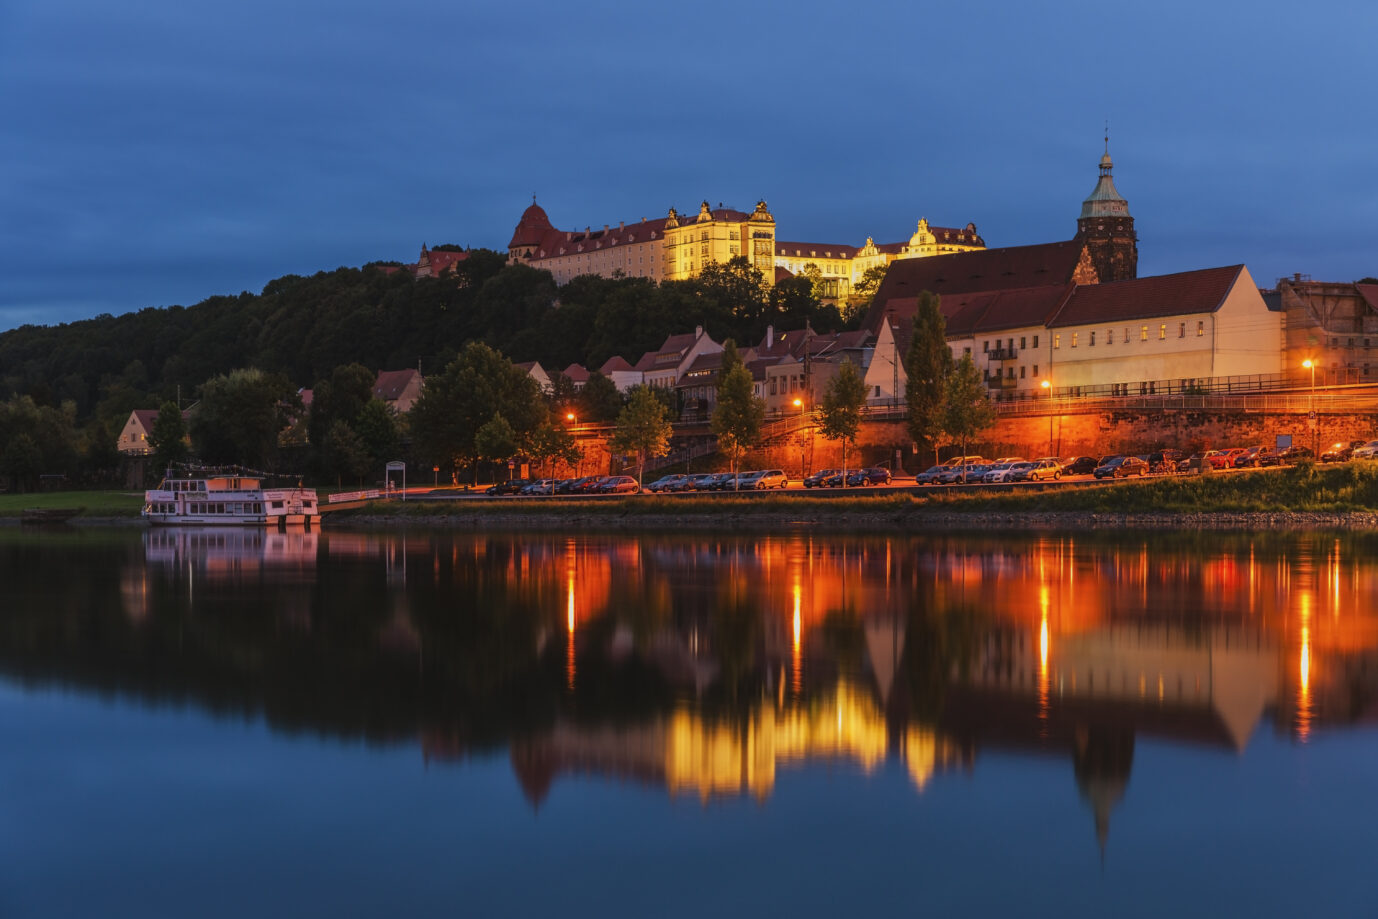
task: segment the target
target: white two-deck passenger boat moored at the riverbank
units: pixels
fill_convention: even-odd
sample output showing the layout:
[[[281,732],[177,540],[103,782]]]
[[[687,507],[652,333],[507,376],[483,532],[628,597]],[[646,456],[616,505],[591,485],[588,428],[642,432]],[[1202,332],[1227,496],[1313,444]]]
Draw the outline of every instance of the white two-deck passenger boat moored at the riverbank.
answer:
[[[263,488],[262,473],[186,470],[143,493],[154,526],[310,526],[320,521],[314,488]]]

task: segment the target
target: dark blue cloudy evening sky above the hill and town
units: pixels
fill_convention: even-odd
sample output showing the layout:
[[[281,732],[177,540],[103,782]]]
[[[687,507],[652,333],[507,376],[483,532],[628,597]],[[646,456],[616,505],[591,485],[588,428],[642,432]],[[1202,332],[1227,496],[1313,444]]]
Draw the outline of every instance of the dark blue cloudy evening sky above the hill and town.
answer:
[[[0,3],[0,329],[765,197],[781,240],[1069,238],[1378,274],[1378,8]]]

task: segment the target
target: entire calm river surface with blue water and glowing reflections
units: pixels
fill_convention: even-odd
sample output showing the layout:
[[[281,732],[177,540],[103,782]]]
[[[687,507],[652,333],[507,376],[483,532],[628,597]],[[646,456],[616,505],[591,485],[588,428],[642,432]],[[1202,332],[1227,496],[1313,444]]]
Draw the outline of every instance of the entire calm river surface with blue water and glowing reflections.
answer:
[[[0,916],[1372,915],[1375,550],[0,530]]]

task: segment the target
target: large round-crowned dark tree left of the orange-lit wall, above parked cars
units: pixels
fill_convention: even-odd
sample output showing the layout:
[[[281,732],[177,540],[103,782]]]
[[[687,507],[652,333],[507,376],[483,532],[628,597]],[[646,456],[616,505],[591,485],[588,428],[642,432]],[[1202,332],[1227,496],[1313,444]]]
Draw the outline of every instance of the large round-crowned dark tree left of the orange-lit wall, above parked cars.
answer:
[[[442,373],[426,380],[411,411],[411,428],[422,456],[459,467],[477,459],[474,435],[495,415],[506,419],[520,442],[547,413],[531,375],[502,351],[469,342]]]

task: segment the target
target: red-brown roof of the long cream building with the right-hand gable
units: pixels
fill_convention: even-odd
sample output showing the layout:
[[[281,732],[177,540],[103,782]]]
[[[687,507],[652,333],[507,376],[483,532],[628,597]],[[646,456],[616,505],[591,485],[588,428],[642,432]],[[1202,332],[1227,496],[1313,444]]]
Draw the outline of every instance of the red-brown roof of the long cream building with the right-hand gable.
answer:
[[[1148,320],[1184,313],[1214,313],[1225,302],[1243,265],[1160,274],[1131,281],[1078,287],[1049,328]]]

